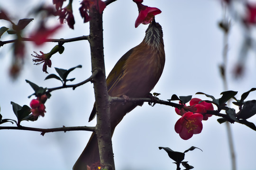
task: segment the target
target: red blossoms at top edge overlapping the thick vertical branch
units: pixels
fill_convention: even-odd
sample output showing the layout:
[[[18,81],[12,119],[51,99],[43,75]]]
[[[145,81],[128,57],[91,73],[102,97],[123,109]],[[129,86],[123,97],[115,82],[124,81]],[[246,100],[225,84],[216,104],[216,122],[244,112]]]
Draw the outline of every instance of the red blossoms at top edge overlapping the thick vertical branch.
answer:
[[[79,8],[79,11],[84,23],[90,21],[91,17],[89,16],[89,9],[93,6],[95,6],[101,14],[106,8],[106,4],[102,0],[82,0],[80,4],[81,7]]]

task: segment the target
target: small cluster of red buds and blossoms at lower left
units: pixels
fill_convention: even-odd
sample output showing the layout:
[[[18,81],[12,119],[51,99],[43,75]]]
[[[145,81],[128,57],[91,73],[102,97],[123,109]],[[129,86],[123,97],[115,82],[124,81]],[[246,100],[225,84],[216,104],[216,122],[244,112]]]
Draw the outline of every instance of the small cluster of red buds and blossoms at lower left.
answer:
[[[44,117],[45,116],[46,100],[47,100],[47,96],[46,96],[46,94],[43,94],[41,96],[38,96],[37,99],[33,99],[30,102],[31,112],[32,112],[33,116],[35,116],[35,117],[38,117],[38,116]]]

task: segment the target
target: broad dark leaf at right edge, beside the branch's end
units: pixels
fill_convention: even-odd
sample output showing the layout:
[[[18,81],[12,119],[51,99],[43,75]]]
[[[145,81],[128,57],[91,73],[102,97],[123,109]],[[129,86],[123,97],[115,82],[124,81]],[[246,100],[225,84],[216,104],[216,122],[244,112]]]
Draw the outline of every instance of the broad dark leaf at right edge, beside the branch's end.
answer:
[[[256,100],[244,102],[242,110],[238,114],[238,119],[248,119],[256,114]]]

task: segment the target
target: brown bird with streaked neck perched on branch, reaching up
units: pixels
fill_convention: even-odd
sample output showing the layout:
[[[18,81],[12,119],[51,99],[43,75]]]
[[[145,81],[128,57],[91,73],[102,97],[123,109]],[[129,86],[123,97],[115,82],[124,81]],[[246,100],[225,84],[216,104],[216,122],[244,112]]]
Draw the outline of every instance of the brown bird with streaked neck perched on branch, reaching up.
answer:
[[[106,79],[108,93],[112,97],[147,97],[160,79],[165,66],[165,49],[162,26],[151,21],[143,41],[126,52],[110,71]],[[123,117],[142,103],[114,102],[110,105],[111,134]],[[89,121],[96,115],[95,104]],[[87,170],[88,166],[99,164],[100,155],[95,132],[92,133],[73,170]]]

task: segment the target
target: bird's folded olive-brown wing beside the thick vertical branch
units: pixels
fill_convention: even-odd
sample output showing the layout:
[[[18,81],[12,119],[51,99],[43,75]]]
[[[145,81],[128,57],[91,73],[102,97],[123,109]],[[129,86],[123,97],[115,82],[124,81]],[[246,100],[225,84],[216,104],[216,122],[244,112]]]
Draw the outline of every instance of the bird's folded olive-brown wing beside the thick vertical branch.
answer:
[[[108,92],[112,92],[113,90],[115,90],[115,86],[120,82],[120,80],[122,79],[121,77],[124,74],[124,64],[126,62],[126,60],[128,59],[128,57],[131,55],[133,49],[129,50],[127,53],[125,53],[116,63],[116,65],[114,66],[114,68],[110,71],[109,76],[107,77],[106,81],[107,81],[107,88],[108,88]],[[96,107],[95,107],[95,103],[93,105],[93,109],[91,110],[91,115],[89,117],[89,122],[95,118],[96,115]]]

